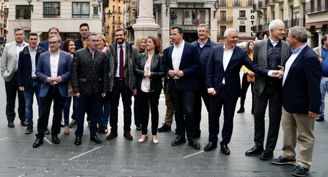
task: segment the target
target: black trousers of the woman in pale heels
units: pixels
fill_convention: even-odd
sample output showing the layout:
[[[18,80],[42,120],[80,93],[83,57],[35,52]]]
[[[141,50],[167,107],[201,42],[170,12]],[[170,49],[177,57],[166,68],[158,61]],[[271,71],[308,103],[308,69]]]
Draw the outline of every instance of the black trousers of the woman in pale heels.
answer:
[[[160,96],[161,90],[154,92],[142,92],[138,90],[137,97],[139,99],[140,106],[140,121],[141,121],[141,133],[142,135],[147,134],[148,127],[148,100],[150,103],[150,111],[151,111],[151,119],[152,119],[152,135],[157,135],[158,128],[158,100]]]

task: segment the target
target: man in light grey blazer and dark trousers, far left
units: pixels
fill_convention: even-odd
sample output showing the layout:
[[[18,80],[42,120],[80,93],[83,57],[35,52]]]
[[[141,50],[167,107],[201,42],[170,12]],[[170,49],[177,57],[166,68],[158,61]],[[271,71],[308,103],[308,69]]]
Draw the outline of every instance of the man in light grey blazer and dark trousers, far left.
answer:
[[[23,91],[18,89],[17,64],[19,52],[22,51],[28,43],[24,41],[25,31],[23,28],[14,29],[15,41],[7,43],[1,58],[1,76],[5,80],[7,105],[6,116],[8,127],[15,127],[15,101],[18,93],[18,117],[20,124],[27,126],[25,115],[25,98]]]

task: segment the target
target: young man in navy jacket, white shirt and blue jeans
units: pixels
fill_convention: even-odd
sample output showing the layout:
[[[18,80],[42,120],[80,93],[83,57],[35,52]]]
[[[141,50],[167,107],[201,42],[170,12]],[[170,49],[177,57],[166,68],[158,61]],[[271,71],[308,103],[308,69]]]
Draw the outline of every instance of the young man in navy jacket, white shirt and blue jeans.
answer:
[[[41,53],[46,52],[45,49],[36,45],[37,34],[30,33],[27,37],[29,43],[23,51],[19,52],[19,60],[17,67],[18,89],[23,91],[26,102],[26,120],[27,128],[25,134],[33,131],[33,96],[35,94],[38,115],[40,115],[40,82],[35,75],[36,64]],[[50,132],[50,131],[49,131]]]

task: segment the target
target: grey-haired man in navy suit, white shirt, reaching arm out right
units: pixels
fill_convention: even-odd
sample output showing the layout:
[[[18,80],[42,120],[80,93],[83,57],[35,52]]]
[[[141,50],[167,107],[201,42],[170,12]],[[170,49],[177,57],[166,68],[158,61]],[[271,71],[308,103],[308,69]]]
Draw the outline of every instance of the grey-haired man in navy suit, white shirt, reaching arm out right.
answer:
[[[282,77],[283,72],[269,71],[256,65],[247,55],[247,51],[236,46],[238,33],[235,29],[224,32],[224,45],[213,47],[206,72],[206,87],[210,94],[209,112],[209,144],[204,147],[210,151],[217,147],[219,134],[219,117],[223,105],[224,124],[222,141],[220,142],[223,154],[230,154],[228,143],[232,136],[233,118],[238,97],[241,96],[240,68],[245,65],[258,75],[265,77]]]

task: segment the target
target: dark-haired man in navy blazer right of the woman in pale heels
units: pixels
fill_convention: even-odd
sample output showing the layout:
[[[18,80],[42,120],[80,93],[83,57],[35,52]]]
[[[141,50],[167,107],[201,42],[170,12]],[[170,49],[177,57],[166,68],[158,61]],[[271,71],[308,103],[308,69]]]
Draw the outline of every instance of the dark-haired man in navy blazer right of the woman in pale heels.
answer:
[[[196,74],[200,69],[197,47],[182,39],[181,26],[171,27],[170,38],[174,45],[166,50],[165,65],[169,79],[168,91],[174,108],[176,132],[178,136],[172,141],[173,146],[186,143],[199,149],[195,140],[194,91],[198,89]],[[184,114],[184,115],[183,115]]]

